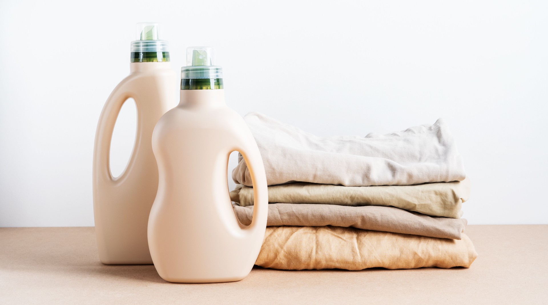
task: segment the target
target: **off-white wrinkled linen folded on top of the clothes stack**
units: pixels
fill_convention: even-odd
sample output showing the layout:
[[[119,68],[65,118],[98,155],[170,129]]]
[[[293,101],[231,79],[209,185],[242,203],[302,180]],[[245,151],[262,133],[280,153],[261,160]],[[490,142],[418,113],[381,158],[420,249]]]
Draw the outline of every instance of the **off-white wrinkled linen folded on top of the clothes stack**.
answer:
[[[461,181],[463,159],[442,119],[386,135],[319,137],[252,112],[244,117],[259,147],[268,185],[342,186]],[[232,179],[252,186],[242,156]]]

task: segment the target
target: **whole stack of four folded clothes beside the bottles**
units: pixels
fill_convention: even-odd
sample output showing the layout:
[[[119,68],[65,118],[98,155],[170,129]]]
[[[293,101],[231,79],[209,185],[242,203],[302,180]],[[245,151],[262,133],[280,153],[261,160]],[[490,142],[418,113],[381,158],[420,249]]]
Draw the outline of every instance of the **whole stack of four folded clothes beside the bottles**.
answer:
[[[244,117],[269,185],[256,264],[276,269],[470,267],[463,233],[470,195],[443,121],[379,135],[318,137],[260,113]],[[249,225],[253,187],[242,156],[230,193]]]

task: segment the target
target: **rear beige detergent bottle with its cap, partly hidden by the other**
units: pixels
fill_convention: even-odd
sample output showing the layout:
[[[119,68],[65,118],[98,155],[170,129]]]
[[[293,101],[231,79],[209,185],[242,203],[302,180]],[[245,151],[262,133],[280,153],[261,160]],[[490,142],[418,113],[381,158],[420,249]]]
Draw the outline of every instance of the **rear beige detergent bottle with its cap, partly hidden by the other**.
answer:
[[[158,24],[137,24],[131,43],[130,74],[112,91],[99,118],[93,156],[93,208],[99,258],[105,264],[151,264],[146,231],[158,189],[152,130],[176,106],[179,78],[170,68],[167,41]],[[110,171],[110,143],[123,103],[135,100],[137,129],[133,152],[118,177]]]

